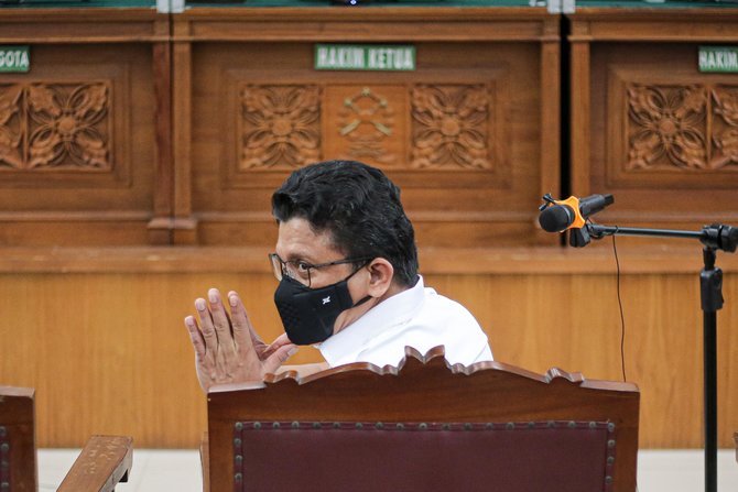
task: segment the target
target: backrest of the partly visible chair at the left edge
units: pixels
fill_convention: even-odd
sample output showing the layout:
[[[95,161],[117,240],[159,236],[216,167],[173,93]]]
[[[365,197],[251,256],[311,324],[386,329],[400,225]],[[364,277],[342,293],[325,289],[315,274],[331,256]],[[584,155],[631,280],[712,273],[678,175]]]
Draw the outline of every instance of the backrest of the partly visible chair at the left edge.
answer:
[[[35,402],[31,387],[0,386],[0,491],[35,492]]]

